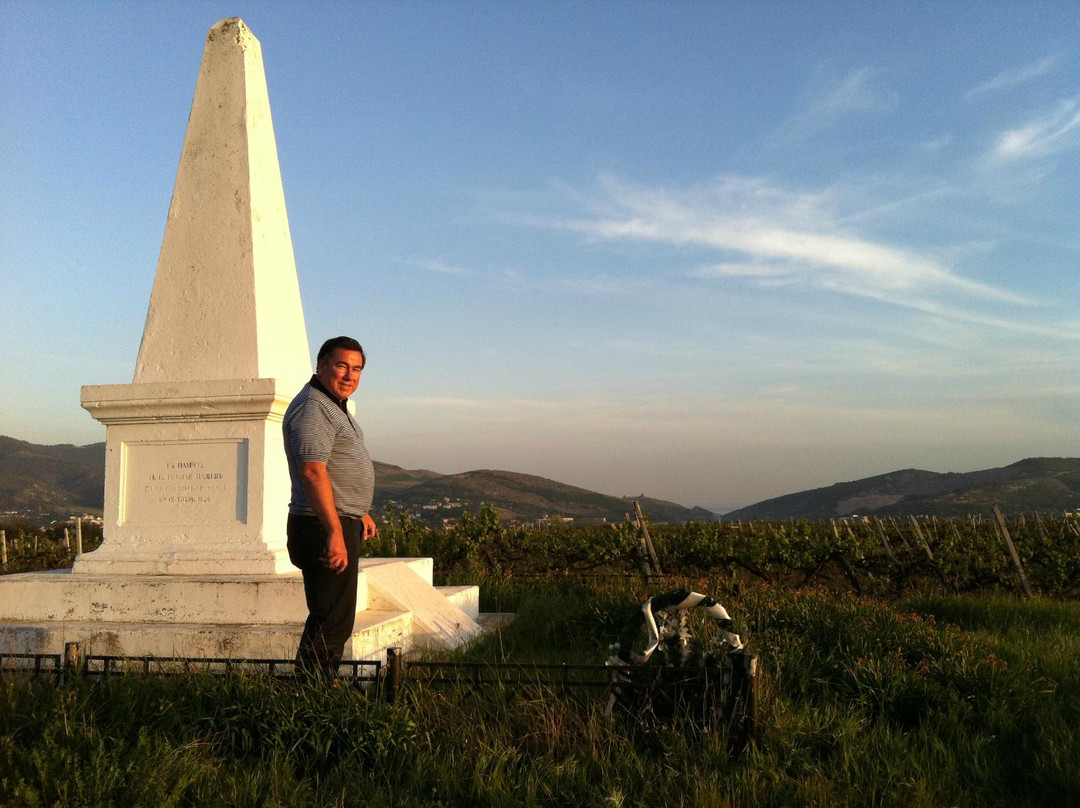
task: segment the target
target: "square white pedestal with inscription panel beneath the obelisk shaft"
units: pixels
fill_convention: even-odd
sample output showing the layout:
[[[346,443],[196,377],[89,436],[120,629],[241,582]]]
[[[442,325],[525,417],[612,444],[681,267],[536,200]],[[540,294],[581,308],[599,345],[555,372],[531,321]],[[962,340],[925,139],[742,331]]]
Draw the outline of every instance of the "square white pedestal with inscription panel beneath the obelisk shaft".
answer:
[[[83,388],[83,406],[106,425],[105,539],[76,573],[294,571],[281,420],[298,389],[275,379]]]

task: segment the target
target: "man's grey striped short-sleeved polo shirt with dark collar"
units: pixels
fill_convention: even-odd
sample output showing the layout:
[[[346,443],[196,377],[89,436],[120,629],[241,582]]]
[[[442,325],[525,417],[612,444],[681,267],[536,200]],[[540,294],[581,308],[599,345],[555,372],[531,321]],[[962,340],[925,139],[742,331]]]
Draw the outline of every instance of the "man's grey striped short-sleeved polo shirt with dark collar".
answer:
[[[314,376],[285,410],[282,432],[293,481],[289,513],[314,514],[300,483],[298,462],[326,463],[338,513],[359,519],[370,510],[375,464],[364,446],[364,432],[345,402],[338,403]]]

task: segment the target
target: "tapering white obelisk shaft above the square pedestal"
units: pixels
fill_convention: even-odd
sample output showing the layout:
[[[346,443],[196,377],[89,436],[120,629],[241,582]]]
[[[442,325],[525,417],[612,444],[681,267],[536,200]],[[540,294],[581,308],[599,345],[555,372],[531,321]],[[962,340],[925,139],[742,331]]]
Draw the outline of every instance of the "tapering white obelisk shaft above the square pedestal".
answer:
[[[310,361],[262,49],[222,19],[206,36],[134,380],[302,383]]]

